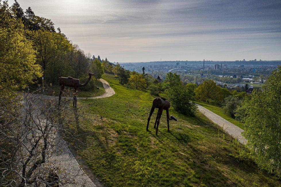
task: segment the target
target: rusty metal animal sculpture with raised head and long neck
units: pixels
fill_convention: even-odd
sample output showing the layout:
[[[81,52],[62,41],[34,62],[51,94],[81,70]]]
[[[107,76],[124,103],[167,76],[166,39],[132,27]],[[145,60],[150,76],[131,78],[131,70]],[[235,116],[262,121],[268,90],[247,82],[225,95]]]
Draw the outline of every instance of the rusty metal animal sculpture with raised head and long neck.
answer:
[[[59,106],[61,104],[61,95],[63,92],[64,87],[69,86],[74,88],[74,97],[73,97],[73,106],[75,105],[75,108],[77,106],[77,97],[76,97],[76,92],[77,89],[81,86],[86,86],[88,82],[91,80],[91,77],[93,76],[93,73],[89,73],[89,78],[84,84],[80,83],[79,79],[73,79],[73,77],[60,77],[59,78],[59,85],[61,86],[61,91],[59,93]]]

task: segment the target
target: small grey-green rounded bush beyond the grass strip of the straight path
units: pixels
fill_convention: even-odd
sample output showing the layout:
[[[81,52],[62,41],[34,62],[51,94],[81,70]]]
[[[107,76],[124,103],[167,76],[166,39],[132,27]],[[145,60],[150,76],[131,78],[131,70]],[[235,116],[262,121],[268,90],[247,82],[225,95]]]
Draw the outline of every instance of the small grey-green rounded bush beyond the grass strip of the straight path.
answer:
[[[235,112],[238,106],[242,104],[241,100],[238,97],[228,96],[224,99],[222,105],[222,111],[224,114],[235,118]]]

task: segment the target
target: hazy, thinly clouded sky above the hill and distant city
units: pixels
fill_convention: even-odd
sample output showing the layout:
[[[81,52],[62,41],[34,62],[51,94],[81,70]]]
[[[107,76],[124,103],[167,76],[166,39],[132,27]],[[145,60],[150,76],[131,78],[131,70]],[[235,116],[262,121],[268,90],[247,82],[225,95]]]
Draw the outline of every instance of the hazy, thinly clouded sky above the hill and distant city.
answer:
[[[52,20],[86,53],[111,62],[281,60],[280,0],[18,3]]]

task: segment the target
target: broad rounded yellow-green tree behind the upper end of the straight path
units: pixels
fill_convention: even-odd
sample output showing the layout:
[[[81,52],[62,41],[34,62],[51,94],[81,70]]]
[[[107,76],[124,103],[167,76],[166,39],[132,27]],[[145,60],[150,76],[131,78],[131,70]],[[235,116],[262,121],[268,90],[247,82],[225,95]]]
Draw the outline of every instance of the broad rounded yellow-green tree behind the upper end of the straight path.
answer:
[[[195,89],[197,100],[207,103],[219,103],[222,99],[222,90],[213,80],[205,80]]]

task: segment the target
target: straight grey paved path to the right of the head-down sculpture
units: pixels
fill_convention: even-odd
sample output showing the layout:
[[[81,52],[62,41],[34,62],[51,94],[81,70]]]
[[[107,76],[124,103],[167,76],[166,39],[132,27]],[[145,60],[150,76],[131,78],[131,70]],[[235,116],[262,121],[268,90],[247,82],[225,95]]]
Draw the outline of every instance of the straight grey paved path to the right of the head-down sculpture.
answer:
[[[229,121],[225,120],[221,116],[211,112],[210,110],[204,108],[203,106],[200,106],[197,104],[198,109],[200,112],[202,112],[207,118],[209,118],[212,122],[217,124],[218,126],[222,127],[226,133],[231,135],[232,137],[236,138],[238,142],[241,144],[246,144],[247,140],[241,135],[242,132],[244,132],[243,129],[239,128],[238,126],[234,125],[233,123],[230,123]]]

